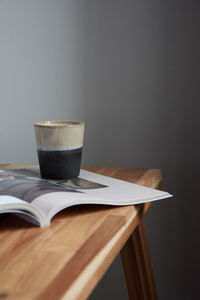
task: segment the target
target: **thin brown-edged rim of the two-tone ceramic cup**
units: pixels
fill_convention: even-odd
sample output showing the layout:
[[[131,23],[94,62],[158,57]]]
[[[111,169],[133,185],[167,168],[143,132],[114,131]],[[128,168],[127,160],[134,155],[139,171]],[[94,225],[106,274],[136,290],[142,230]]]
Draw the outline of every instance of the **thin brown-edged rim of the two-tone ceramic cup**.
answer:
[[[58,125],[58,123],[60,124]],[[63,124],[61,125],[61,123]],[[39,121],[34,123],[35,127],[43,127],[43,128],[82,127],[84,125],[85,123],[83,121],[78,121],[78,120],[48,120],[48,121]]]

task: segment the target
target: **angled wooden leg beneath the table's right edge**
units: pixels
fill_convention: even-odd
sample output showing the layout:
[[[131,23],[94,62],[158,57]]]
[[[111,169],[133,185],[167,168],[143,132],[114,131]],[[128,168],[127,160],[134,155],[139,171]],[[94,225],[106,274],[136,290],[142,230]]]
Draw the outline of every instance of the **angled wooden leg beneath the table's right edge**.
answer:
[[[143,217],[121,250],[129,298],[156,300],[157,293]]]

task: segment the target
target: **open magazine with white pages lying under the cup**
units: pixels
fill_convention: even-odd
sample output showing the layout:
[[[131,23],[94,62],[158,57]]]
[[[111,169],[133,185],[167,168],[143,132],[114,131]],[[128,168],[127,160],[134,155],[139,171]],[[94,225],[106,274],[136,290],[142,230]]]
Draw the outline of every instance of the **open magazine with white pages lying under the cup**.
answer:
[[[0,169],[0,213],[15,213],[40,227],[78,204],[131,205],[168,198],[167,192],[81,170],[78,178],[49,181],[37,169]]]

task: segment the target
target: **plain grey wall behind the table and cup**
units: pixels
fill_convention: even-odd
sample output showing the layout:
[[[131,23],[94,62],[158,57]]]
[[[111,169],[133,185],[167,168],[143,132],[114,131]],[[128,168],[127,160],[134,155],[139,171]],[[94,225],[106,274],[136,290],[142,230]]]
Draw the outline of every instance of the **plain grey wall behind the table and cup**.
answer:
[[[0,161],[36,163],[32,123],[86,122],[83,165],[162,168],[146,227],[159,299],[197,299],[198,1],[0,1]],[[128,299],[119,257],[91,299]]]

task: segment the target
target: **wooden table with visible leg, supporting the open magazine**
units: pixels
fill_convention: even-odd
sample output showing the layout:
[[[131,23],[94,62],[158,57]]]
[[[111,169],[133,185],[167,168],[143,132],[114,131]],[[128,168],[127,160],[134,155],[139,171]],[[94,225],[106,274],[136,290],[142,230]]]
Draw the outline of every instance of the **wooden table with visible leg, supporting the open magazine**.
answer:
[[[152,188],[161,185],[157,169],[85,169]],[[143,223],[149,206],[72,207],[42,229],[5,217],[0,221],[0,299],[86,299],[120,251],[130,299],[157,299]]]

